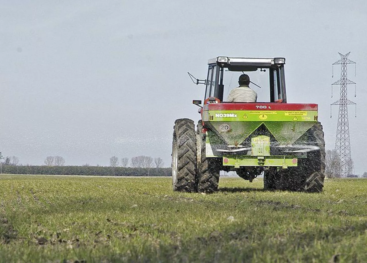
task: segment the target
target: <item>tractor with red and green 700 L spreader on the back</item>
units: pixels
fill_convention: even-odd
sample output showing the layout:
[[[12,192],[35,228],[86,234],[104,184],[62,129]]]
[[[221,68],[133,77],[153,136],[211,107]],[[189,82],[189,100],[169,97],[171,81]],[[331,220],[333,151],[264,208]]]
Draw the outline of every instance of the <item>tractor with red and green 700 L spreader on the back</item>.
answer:
[[[175,121],[174,191],[217,191],[220,171],[236,171],[250,182],[264,175],[265,190],[323,190],[325,142],[318,105],[287,102],[285,61],[226,56],[208,61],[207,78],[196,79],[206,86],[204,102],[193,101],[201,120],[196,129],[193,120]],[[243,73],[262,102],[226,102]]]

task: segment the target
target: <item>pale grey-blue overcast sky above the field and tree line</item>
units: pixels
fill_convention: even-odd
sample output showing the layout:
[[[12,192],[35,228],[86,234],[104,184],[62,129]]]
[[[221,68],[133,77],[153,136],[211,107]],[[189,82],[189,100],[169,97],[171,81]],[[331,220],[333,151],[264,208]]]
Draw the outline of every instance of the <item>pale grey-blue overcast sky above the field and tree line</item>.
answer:
[[[348,77],[355,172],[367,171],[367,1],[40,1],[0,3],[0,151],[22,164],[60,155],[109,165],[148,155],[171,164],[174,120],[199,120],[215,56],[286,58],[288,102],[319,103],[333,149],[340,67]]]

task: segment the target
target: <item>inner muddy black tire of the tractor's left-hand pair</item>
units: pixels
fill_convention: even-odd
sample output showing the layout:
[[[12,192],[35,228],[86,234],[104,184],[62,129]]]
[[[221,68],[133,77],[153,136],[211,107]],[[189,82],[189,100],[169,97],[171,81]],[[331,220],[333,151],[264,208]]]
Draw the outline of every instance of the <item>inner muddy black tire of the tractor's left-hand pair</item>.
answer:
[[[222,167],[221,158],[206,157],[206,136],[201,132],[203,124],[201,120],[197,124],[197,191],[201,193],[213,193],[218,190],[219,171]],[[200,151],[200,156],[199,156]]]

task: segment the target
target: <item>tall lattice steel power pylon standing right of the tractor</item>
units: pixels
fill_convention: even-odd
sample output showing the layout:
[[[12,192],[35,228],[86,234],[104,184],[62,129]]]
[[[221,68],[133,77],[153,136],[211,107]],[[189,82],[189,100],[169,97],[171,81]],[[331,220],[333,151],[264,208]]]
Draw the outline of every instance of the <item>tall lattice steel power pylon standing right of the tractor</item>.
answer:
[[[341,65],[341,77],[338,81],[335,81],[331,85],[340,85],[340,97],[338,101],[335,101],[331,105],[339,105],[339,116],[337,135],[335,139],[335,150],[339,156],[340,166],[337,173],[345,177],[352,173],[352,158],[350,154],[350,138],[349,138],[349,121],[348,121],[348,105],[357,105],[355,102],[348,99],[348,84],[355,84],[355,82],[347,78],[348,64],[356,64],[356,62],[348,59],[350,52],[343,55],[340,54],[341,59],[333,63],[333,77],[334,77],[334,65]],[[355,68],[356,70],[356,68]],[[356,76],[356,71],[355,71]],[[333,98],[333,86],[331,86],[331,98]],[[355,90],[356,96],[356,90]],[[331,107],[331,106],[330,106]],[[356,106],[357,107],[357,106]],[[330,115],[331,117],[331,115]],[[356,108],[357,117],[357,108]]]

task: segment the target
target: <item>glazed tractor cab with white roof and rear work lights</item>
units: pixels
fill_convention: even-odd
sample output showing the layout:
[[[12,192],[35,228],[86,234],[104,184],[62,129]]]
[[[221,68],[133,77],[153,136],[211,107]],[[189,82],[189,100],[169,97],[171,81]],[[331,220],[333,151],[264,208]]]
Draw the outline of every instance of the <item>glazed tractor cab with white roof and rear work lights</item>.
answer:
[[[258,102],[287,103],[284,77],[285,58],[230,58],[218,56],[208,60],[204,103],[208,98],[226,102],[229,92],[238,87],[241,74],[250,77],[250,88],[258,93]]]

